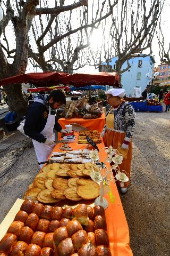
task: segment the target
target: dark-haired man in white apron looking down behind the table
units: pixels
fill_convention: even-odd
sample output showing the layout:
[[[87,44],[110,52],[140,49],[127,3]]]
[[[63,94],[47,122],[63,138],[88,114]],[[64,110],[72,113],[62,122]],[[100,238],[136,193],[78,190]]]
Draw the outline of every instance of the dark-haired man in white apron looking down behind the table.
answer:
[[[65,104],[65,92],[53,90],[49,95],[39,95],[28,109],[25,118],[24,133],[32,139],[38,163],[45,162],[55,146],[55,134],[66,133],[56,121],[56,109]],[[43,164],[39,165],[40,168]]]

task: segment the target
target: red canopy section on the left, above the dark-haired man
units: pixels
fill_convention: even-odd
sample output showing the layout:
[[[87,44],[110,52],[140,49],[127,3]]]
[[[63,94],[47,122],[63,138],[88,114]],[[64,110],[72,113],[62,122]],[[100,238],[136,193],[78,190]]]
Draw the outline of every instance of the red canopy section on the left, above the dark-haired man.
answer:
[[[66,76],[66,73],[57,73],[57,72],[46,72],[46,73],[28,73],[17,76],[8,77],[0,80],[0,86],[16,83],[30,83],[39,85],[55,85],[58,84],[60,79],[63,76]]]

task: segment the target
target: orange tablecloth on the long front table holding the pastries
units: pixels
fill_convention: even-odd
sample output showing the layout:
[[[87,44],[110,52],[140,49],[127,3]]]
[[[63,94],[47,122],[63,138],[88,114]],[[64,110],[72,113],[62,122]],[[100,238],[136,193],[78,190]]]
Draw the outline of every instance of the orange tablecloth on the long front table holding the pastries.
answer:
[[[94,129],[94,128],[93,128]],[[76,139],[74,142],[69,143],[69,146],[74,150],[84,149],[87,144],[78,144],[78,133],[75,132]],[[101,138],[102,139],[102,138]],[[59,148],[61,143],[58,143],[53,151],[61,151]],[[90,146],[91,147],[91,146]],[[91,149],[89,147],[89,149]],[[104,142],[98,144],[98,148],[104,148]],[[102,154],[99,153],[101,162],[105,162],[106,153],[103,150]],[[106,195],[106,199],[109,206],[106,210],[107,232],[109,236],[109,242],[111,247],[112,256],[133,256],[129,246],[129,228],[123,211],[120,196],[117,191],[115,183],[111,182],[112,194],[115,197],[115,202],[112,203],[109,196]]]

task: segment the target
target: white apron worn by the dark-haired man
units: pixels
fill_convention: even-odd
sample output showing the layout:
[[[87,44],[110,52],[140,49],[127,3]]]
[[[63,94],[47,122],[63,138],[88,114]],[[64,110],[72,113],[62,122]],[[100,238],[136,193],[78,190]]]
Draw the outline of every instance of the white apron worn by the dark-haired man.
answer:
[[[53,132],[53,129],[54,129],[56,115],[51,115],[50,113],[51,113],[51,110],[49,108],[47,123],[43,131],[41,131],[40,133],[43,134],[46,138],[50,138],[55,141],[55,134]],[[49,154],[52,152],[55,145],[48,146],[48,145],[45,145],[45,143],[40,143],[36,140],[32,140],[32,142],[33,142],[34,149],[36,151],[38,163],[47,161],[47,158]],[[43,164],[40,164],[39,166],[40,168],[42,168]]]

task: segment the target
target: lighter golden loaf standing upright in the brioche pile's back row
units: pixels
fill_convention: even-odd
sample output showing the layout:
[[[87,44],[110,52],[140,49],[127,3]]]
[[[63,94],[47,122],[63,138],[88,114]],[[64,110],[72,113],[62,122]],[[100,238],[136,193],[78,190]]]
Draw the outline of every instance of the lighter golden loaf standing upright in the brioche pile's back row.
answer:
[[[88,225],[88,210],[86,204],[80,204],[75,209],[75,218],[82,224]]]

